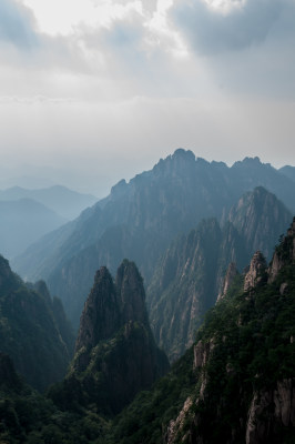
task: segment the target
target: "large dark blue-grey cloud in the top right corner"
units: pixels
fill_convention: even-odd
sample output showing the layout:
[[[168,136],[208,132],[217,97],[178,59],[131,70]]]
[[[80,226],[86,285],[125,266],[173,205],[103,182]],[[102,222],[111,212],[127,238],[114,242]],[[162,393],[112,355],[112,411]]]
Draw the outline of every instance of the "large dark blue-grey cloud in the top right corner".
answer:
[[[277,38],[295,33],[294,0],[232,3],[235,6],[224,14],[211,9],[202,0],[179,1],[172,10],[172,17],[194,50],[206,54],[260,44],[273,33]]]

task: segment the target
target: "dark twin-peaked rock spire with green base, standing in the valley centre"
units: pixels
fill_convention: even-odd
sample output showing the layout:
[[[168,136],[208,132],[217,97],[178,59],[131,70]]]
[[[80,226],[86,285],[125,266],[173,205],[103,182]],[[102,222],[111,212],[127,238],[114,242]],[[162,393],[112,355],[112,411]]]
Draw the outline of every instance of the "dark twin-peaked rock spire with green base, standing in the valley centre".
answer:
[[[144,300],[133,262],[123,261],[115,283],[106,268],[96,272],[70,373],[50,392],[58,405],[72,410],[95,404],[99,412],[114,414],[169,370],[165,354],[155,345]]]

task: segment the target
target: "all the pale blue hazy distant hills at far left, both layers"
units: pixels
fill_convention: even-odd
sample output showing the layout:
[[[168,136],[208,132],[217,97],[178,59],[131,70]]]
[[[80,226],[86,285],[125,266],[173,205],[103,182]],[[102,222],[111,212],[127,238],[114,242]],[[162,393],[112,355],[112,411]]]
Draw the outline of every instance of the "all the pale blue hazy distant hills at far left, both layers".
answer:
[[[64,186],[0,190],[0,251],[9,259],[45,233],[77,218],[96,199]]]

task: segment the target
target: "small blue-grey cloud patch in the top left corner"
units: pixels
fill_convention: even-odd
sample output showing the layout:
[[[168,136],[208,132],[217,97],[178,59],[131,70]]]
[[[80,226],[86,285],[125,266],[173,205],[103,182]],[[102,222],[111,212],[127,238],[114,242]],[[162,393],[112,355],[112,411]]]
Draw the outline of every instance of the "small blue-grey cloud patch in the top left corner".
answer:
[[[13,0],[0,1],[0,42],[31,48],[38,43],[33,26],[34,19],[28,8]]]

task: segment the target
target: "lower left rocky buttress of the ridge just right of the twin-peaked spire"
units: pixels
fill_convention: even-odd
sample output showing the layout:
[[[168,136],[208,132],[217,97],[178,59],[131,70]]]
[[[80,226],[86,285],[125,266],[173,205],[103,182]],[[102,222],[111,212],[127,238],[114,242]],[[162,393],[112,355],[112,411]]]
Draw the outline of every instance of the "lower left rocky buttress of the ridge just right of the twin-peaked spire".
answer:
[[[238,235],[232,236],[231,258],[223,258],[224,235],[216,220],[203,221],[171,245],[148,289],[151,325],[171,361],[193,344],[202,316],[214,305],[223,259],[240,260]]]

